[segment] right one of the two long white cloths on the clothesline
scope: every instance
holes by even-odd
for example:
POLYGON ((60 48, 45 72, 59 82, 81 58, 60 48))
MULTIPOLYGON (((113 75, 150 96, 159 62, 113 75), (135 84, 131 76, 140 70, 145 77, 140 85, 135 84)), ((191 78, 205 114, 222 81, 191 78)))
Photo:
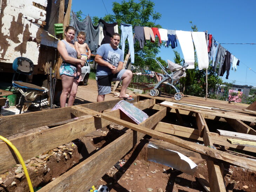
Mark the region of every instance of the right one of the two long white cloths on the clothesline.
POLYGON ((191 32, 196 48, 196 55, 198 59, 198 68, 206 69, 209 66, 207 44, 204 32, 191 32))

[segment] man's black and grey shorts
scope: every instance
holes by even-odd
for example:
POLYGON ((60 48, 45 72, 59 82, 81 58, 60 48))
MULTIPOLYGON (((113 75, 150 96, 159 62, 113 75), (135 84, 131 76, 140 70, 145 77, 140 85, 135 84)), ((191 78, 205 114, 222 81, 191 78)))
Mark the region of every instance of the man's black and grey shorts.
POLYGON ((96 76, 96 81, 98 85, 98 94, 99 95, 106 95, 111 92, 111 82, 112 81, 121 81, 121 78, 124 74, 126 69, 122 69, 116 74, 110 75, 99 75, 96 76))

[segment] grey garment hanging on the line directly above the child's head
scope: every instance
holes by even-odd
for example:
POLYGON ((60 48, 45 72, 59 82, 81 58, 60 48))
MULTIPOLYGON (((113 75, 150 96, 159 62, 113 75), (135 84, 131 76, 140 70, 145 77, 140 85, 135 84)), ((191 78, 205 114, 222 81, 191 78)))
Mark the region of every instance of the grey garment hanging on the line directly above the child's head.
POLYGON ((89 16, 86 16, 86 18, 81 22, 76 17, 76 14, 72 11, 69 25, 75 27, 76 29, 74 41, 77 41, 76 37, 78 36, 78 33, 80 31, 83 31, 87 34, 88 22, 89 22, 89 16))

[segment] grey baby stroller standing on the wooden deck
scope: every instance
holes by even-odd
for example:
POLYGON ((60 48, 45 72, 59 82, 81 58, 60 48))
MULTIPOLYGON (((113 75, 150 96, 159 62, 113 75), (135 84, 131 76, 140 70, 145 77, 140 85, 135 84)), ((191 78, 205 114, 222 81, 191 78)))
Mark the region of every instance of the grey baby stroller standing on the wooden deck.
POLYGON ((168 62, 168 68, 165 68, 162 66, 162 64, 155 59, 156 63, 161 67, 161 69, 164 71, 165 75, 158 73, 157 75, 160 75, 162 77, 162 80, 160 80, 153 89, 150 90, 151 96, 160 96, 161 91, 160 87, 162 84, 170 85, 171 88, 173 88, 176 93, 174 94, 175 100, 181 100, 184 95, 180 90, 178 90, 174 84, 177 84, 178 80, 180 80, 181 77, 186 77, 186 67, 188 67, 188 64, 183 63, 183 65, 176 64, 174 62, 171 62, 170 60, 167 60, 168 62), (170 70, 171 73, 167 73, 167 70, 170 70))

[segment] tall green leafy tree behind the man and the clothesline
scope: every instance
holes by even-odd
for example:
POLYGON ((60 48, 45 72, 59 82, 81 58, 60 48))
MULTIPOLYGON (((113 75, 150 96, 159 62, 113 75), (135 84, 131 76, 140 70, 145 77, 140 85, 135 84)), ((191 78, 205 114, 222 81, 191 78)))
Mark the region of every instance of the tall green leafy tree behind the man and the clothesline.
MULTIPOLYGON (((154 2, 150 0, 140 0, 139 3, 134 2, 134 0, 123 0, 121 4, 118 2, 113 2, 112 10, 114 14, 106 15, 103 20, 105 20, 106 22, 127 23, 132 26, 148 26, 161 28, 160 25, 155 24, 156 20, 159 20, 161 18, 161 14, 154 11, 154 6, 154 2)), ((119 31, 121 31, 120 27, 121 25, 119 25, 119 31)), ((136 43, 134 44, 134 66, 139 66, 141 68, 149 67, 150 70, 157 71, 159 67, 153 59, 160 51, 157 43, 157 37, 154 43, 147 40, 144 48, 141 49, 139 42, 136 41, 136 43)), ((128 53, 127 40, 124 53, 128 53)))

